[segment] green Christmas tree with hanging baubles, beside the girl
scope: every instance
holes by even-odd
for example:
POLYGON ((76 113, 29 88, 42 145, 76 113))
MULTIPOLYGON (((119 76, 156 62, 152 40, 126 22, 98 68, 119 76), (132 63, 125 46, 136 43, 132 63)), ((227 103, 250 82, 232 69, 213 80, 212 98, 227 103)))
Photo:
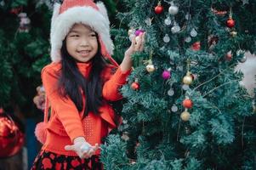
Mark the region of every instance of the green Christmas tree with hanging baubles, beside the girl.
POLYGON ((146 31, 121 91, 122 125, 102 145, 105 169, 253 169, 253 97, 239 82, 256 52, 256 2, 123 0, 116 54, 146 31))

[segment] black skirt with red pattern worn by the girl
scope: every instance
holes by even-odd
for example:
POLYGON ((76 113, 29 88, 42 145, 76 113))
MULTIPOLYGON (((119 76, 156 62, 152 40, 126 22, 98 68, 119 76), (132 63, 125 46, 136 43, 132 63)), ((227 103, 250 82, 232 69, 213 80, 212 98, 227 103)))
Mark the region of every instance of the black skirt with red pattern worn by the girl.
POLYGON ((64 156, 47 150, 41 150, 37 155, 31 170, 103 170, 99 156, 81 159, 79 156, 64 156))

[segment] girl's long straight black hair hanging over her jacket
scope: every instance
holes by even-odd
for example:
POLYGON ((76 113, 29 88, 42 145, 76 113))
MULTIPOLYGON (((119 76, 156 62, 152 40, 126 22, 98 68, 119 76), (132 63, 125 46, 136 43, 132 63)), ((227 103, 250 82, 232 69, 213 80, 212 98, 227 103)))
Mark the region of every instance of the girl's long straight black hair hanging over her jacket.
POLYGON ((88 77, 83 77, 78 70, 77 61, 71 57, 66 49, 66 39, 61 47, 61 71, 59 79, 59 94, 62 97, 70 97, 77 106, 77 110, 82 111, 82 94, 85 94, 85 111, 83 118, 88 116, 88 112, 100 114, 100 105, 103 105, 102 99, 102 79, 101 72, 105 68, 105 59, 100 53, 100 42, 96 34, 98 42, 98 52, 92 58, 92 68, 89 71, 88 77))

